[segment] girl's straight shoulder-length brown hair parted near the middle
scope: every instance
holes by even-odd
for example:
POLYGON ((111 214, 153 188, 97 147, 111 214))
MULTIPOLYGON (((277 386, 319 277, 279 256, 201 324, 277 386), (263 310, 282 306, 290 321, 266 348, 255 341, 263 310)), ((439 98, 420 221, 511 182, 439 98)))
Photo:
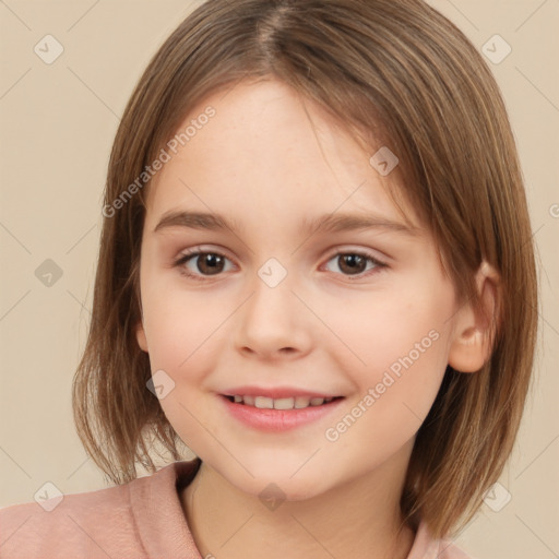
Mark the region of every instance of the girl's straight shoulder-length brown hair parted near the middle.
POLYGON ((370 155, 383 144, 397 154, 405 195, 463 302, 478 305, 474 276, 483 260, 500 274, 492 355, 474 374, 448 367, 402 495, 404 518, 442 537, 472 519, 512 451, 533 368, 537 281, 499 88, 464 34, 419 0, 210 0, 159 48, 124 110, 108 166, 111 211, 104 210, 91 329, 73 384, 79 436, 116 484, 136 476, 138 461, 155 471, 144 430, 180 460, 181 441, 146 389, 150 360, 134 335, 147 188, 131 194, 129 186, 191 107, 266 76, 322 107, 370 155))

